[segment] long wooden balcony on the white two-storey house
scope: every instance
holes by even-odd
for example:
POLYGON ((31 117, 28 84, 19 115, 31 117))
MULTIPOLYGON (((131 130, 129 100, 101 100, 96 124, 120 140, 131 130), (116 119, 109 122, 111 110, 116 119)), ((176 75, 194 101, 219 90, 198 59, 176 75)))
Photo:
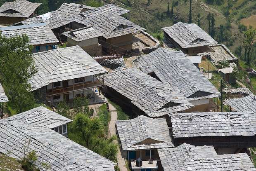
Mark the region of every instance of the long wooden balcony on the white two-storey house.
POLYGON ((101 87, 103 84, 99 80, 95 80, 94 82, 81 82, 78 84, 73 84, 68 87, 57 87, 54 89, 47 89, 47 96, 54 96, 62 93, 69 93, 75 91, 81 91, 85 89, 91 89, 93 87, 101 87))

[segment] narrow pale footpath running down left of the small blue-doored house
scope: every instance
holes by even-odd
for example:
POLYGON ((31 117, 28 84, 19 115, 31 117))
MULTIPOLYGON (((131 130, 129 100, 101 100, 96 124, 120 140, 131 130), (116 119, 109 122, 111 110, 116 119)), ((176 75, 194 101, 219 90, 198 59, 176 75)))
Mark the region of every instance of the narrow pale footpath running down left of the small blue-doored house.
MULTIPOLYGON (((110 136, 114 136, 114 135, 116 135, 117 112, 116 112, 116 108, 114 108, 114 106, 111 105, 110 103, 109 103, 109 110, 111 113, 111 120, 109 122, 109 134, 110 134, 110 136)), ((118 142, 116 141, 116 143, 118 143, 118 142)), ((125 159, 121 155, 120 148, 118 148, 118 152, 117 152, 117 162, 118 162, 120 171, 127 171, 126 162, 125 162, 125 159)))

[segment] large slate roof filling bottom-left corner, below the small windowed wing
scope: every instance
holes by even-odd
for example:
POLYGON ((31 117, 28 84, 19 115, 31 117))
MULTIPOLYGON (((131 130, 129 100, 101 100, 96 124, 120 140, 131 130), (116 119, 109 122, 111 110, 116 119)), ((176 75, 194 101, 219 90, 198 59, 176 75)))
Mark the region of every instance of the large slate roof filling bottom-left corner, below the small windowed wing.
POLYGON ((49 128, 1 119, 0 129, 0 152, 21 159, 24 151, 34 150, 42 171, 39 162, 49 164, 51 171, 114 171, 116 163, 49 128))

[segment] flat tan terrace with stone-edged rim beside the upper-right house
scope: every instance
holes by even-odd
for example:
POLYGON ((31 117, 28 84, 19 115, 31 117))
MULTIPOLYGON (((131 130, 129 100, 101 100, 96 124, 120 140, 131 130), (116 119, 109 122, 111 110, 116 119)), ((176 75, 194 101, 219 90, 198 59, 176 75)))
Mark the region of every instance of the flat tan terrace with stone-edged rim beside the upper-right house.
POLYGON ((213 52, 200 53, 200 56, 209 56, 211 61, 216 65, 222 61, 236 61, 238 60, 234 54, 223 44, 211 46, 213 52))

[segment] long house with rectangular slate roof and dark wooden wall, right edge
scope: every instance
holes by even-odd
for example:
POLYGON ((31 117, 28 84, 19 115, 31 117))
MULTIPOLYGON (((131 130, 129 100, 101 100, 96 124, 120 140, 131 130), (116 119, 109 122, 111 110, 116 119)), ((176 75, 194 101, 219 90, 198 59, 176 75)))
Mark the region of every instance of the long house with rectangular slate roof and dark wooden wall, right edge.
POLYGON ((213 145, 218 154, 247 152, 256 147, 254 112, 194 112, 173 114, 175 147, 183 143, 213 145))

